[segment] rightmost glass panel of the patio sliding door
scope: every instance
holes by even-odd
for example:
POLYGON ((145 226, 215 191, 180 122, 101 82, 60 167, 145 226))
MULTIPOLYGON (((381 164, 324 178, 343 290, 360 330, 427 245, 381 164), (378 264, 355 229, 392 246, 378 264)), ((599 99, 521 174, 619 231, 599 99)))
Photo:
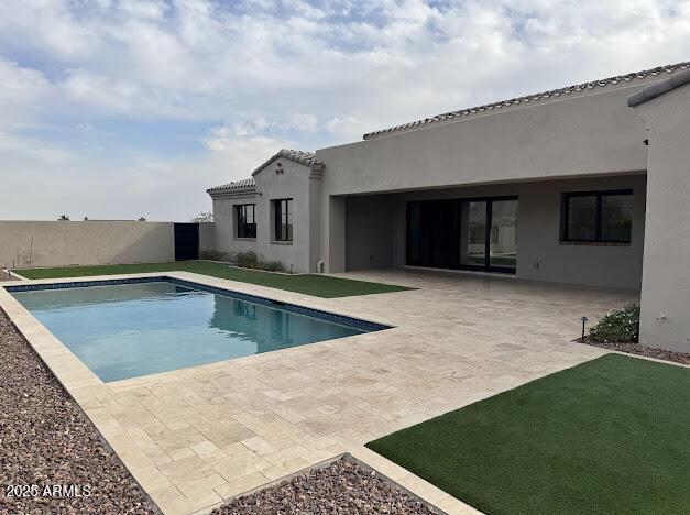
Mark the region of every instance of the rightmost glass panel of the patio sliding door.
POLYGON ((491 202, 489 265, 515 270, 517 264, 517 200, 491 202))

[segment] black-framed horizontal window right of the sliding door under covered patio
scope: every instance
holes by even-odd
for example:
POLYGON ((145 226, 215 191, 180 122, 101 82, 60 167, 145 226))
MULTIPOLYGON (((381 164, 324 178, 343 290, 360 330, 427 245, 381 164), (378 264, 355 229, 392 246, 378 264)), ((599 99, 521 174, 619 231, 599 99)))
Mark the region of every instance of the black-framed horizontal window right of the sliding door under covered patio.
POLYGON ((633 190, 578 191, 562 195, 561 241, 629 243, 633 190))

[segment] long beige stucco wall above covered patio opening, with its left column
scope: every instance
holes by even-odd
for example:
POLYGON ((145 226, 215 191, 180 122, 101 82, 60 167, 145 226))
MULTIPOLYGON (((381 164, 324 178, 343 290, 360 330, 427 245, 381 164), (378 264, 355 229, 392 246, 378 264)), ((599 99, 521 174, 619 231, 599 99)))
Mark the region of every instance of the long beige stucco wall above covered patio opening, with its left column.
MULTIPOLYGON (((643 173, 647 135, 626 99, 657 80, 319 150, 316 158, 326 164, 320 204, 330 206, 339 196, 643 173)), ((328 228, 342 227, 344 215, 329 209, 324 221, 319 254, 328 272, 343 271, 346 245, 328 228)))

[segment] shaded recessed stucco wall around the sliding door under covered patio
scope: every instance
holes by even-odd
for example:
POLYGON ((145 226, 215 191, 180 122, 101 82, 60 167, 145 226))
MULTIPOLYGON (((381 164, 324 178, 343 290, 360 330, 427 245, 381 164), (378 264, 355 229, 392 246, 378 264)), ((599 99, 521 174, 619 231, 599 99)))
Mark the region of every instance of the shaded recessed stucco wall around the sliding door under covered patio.
POLYGON ((637 174, 348 198, 347 267, 405 264, 407 201, 517 195, 517 277, 638 289, 645 238, 645 175, 637 174), (629 245, 560 242, 561 194, 627 188, 633 189, 634 196, 629 245))

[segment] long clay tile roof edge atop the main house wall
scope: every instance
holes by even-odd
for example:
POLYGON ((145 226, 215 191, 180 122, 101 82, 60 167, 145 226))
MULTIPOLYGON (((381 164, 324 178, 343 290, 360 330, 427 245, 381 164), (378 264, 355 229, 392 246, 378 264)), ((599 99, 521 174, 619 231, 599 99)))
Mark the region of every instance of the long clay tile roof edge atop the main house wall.
POLYGON ((436 123, 442 122, 442 121, 448 121, 448 120, 452 120, 456 118, 461 118, 461 117, 466 117, 469 114, 474 114, 478 112, 486 112, 486 111, 494 111, 494 110, 499 110, 501 108, 505 108, 505 107, 511 107, 511 106, 517 106, 521 103, 529 103, 529 102, 534 102, 537 100, 545 100, 545 99, 549 99, 549 98, 558 98, 560 96, 566 96, 566 95, 570 95, 573 92, 579 92, 579 91, 584 91, 588 89, 593 89, 593 88, 599 88, 599 87, 605 87, 605 86, 610 86, 610 85, 617 85, 621 83, 629 83, 633 79, 643 79, 643 78, 647 78, 647 77, 656 77, 659 76, 661 74, 672 74, 676 72, 680 72, 680 70, 684 70, 684 69, 690 69, 690 62, 683 62, 683 63, 678 63, 675 65, 667 65, 667 66, 659 66, 657 68, 653 68, 653 69, 645 69, 643 72, 636 72, 636 73, 632 73, 632 74, 626 74, 626 75, 618 75, 616 77, 610 77, 610 78, 605 78, 605 79, 601 79, 601 80, 594 80, 592 83, 583 83, 583 84, 577 84, 573 86, 567 86, 565 88, 559 88, 559 89, 552 89, 550 91, 543 91, 543 92, 538 92, 538 94, 533 94, 533 95, 527 95, 525 97, 517 97, 517 98, 513 98, 511 100, 502 100, 500 102, 493 102, 493 103, 485 103, 483 106, 477 106, 473 108, 467 108, 467 109, 461 109, 458 111, 450 111, 450 112, 446 112, 442 114, 437 114, 435 117, 429 117, 429 118, 425 118, 424 120, 417 120, 410 123, 404 123, 402 125, 395 125, 395 127, 391 127, 387 129, 381 129, 379 131, 374 131, 374 132, 369 132, 366 134, 364 134, 364 140, 370 140, 372 138, 376 138, 379 135, 384 135, 384 134, 390 134, 390 133, 394 133, 394 132, 398 132, 398 131, 405 131, 407 129, 415 129, 415 128, 419 128, 419 127, 427 127, 427 125, 434 125, 436 123))

